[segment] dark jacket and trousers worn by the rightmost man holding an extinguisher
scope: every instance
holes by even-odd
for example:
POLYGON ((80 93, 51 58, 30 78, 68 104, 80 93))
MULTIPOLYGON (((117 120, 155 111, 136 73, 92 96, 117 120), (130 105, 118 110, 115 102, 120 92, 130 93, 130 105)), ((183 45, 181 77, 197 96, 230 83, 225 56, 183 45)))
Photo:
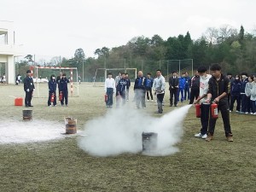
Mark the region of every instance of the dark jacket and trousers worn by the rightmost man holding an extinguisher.
MULTIPOLYGON (((230 106, 228 101, 228 93, 230 91, 230 79, 228 79, 226 76, 221 74, 221 78, 217 81, 215 77, 212 76, 211 79, 209 79, 209 90, 208 93, 212 94, 212 102, 215 98, 222 95, 224 92, 226 93, 226 96, 224 96, 222 99, 218 102, 218 111, 221 112, 221 116, 224 123, 224 131, 225 136, 228 137, 229 135, 232 136, 231 127, 230 127, 230 106)), ((216 125, 217 119, 212 119, 212 113, 210 113, 210 122, 209 122, 209 134, 213 136, 215 125, 216 125)))

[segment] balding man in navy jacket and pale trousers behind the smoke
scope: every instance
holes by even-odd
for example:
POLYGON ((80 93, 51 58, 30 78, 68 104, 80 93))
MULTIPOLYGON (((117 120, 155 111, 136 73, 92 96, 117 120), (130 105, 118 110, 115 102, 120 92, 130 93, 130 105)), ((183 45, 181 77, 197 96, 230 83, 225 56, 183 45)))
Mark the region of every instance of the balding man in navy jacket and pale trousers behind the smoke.
POLYGON ((138 71, 137 79, 134 82, 134 92, 135 92, 135 102, 136 108, 140 108, 140 104, 142 104, 142 108, 146 108, 145 95, 146 95, 146 78, 143 76, 142 71, 138 71))

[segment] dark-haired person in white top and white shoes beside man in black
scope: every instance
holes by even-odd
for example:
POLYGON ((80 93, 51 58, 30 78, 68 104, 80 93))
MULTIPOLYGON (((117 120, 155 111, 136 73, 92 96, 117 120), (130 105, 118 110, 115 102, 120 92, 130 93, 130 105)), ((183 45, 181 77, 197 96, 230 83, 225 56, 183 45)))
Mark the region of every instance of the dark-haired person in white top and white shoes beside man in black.
POLYGON ((200 75, 200 94, 195 100, 194 104, 201 102, 201 131, 195 134, 195 137, 207 138, 207 131, 209 125, 210 103, 206 102, 208 93, 208 82, 212 75, 207 74, 207 67, 201 66, 197 69, 200 75))

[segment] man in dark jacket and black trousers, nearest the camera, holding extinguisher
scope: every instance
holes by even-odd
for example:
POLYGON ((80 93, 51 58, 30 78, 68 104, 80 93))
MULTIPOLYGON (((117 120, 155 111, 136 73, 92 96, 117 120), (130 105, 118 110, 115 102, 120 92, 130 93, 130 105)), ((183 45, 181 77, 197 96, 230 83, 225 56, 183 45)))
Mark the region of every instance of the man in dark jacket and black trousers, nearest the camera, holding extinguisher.
MULTIPOLYGON (((221 73, 221 67, 218 64, 213 64, 210 67, 210 70, 212 72, 212 78, 209 79, 208 82, 209 90, 207 93, 206 102, 218 103, 218 111, 221 112, 224 123, 225 137, 227 138, 228 142, 233 142, 233 134, 230 126, 230 106, 228 102, 230 79, 221 73)), ((213 119, 212 113, 210 113, 209 129, 206 138, 207 142, 210 142, 213 138, 216 121, 217 119, 213 119)))

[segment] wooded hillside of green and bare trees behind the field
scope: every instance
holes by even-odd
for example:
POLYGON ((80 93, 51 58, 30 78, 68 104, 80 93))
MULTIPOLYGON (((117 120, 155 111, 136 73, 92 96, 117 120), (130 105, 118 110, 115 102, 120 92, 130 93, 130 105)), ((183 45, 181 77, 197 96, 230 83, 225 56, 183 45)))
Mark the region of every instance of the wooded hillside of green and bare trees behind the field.
MULTIPOLYGON (((72 59, 53 58, 44 65, 78 67, 81 77, 84 69, 86 79, 94 77, 96 68, 137 68, 144 73, 154 73, 161 68, 166 75, 181 67, 182 71, 191 72, 192 60, 194 69, 219 63, 225 73, 256 73, 256 37, 253 32, 245 32, 243 26, 239 30, 228 25, 209 27, 195 40, 189 32, 166 40, 157 34, 152 38, 139 36, 119 47, 96 49, 94 54, 95 57, 86 58, 84 50, 79 48, 72 59)), ((16 63, 17 67, 42 65, 32 63, 31 56, 26 55, 24 61, 16 63)), ((99 76, 104 76, 103 72, 99 76)))

